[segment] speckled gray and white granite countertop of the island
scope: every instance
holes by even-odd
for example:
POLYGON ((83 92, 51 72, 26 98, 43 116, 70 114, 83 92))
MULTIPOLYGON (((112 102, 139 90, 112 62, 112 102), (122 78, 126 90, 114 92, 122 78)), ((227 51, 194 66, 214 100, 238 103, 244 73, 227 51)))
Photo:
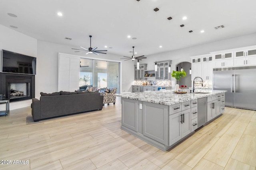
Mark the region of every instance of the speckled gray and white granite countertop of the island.
POLYGON ((204 98, 207 96, 212 96, 215 94, 221 94, 227 92, 226 90, 207 90, 207 93, 186 93, 186 94, 176 94, 172 90, 163 91, 150 91, 150 92, 136 92, 136 93, 124 93, 116 94, 116 96, 122 98, 128 98, 133 100, 139 100, 143 102, 150 102, 162 105, 173 105, 181 102, 187 102, 190 100, 204 98))

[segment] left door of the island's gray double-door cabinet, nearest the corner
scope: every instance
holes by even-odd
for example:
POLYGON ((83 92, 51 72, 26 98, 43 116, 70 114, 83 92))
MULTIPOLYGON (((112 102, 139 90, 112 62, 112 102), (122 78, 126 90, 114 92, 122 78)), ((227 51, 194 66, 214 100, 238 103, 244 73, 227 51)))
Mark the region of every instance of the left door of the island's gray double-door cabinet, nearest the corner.
POLYGON ((181 112, 169 115, 169 145, 181 139, 181 112))

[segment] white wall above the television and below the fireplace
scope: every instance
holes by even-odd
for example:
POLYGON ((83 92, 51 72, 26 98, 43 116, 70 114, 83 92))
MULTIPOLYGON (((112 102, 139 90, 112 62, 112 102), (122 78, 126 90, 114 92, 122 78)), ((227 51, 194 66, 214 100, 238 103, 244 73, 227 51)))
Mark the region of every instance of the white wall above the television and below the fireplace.
MULTIPOLYGON (((14 29, 0 25, 0 50, 2 51, 2 49, 37 57, 37 40, 14 29)), ((2 60, 1 57, 0 59, 2 60)), ((30 106, 31 102, 32 100, 12 102, 10 103, 10 109, 30 106)), ((0 110, 5 110, 5 105, 1 104, 0 110)))

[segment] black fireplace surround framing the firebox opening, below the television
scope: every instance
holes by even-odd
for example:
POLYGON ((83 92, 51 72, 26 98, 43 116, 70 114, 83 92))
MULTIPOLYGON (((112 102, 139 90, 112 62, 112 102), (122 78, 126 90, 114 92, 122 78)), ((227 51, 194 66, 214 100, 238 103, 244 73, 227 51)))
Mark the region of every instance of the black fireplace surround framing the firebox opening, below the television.
POLYGON ((14 74, 14 73, 0 73, 0 94, 4 94, 6 98, 10 98, 10 102, 29 100, 35 98, 35 75, 30 74, 14 74), (29 96, 22 96, 19 98, 10 98, 10 83, 26 83, 28 84, 29 96))

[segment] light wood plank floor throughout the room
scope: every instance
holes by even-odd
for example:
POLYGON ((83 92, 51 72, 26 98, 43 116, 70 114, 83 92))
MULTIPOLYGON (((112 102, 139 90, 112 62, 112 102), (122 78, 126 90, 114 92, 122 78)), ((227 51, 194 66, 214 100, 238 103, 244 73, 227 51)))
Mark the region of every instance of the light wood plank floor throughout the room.
POLYGON ((256 170, 256 111, 226 107, 221 117, 166 152, 120 125, 120 98, 101 111, 39 122, 33 122, 30 107, 11 110, 0 117, 0 160, 11 164, 0 169, 256 170))

